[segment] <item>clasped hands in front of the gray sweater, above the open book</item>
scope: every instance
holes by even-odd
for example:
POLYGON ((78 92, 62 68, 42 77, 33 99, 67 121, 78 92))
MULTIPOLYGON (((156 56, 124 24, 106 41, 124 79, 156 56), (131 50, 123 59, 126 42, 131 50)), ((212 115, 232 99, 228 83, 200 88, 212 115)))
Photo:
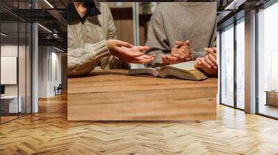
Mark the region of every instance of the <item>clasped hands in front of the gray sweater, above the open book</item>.
POLYGON ((176 41, 177 46, 171 49, 170 55, 162 55, 162 65, 177 64, 179 62, 186 62, 192 60, 192 52, 189 48, 189 41, 176 41))

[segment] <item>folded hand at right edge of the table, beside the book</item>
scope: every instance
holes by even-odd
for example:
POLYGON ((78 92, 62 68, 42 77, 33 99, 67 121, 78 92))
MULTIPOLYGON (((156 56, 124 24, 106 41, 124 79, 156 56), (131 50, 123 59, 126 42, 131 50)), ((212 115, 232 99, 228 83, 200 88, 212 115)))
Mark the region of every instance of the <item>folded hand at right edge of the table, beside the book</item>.
POLYGON ((204 71, 208 75, 218 75, 217 50, 216 48, 204 48, 208 55, 197 57, 195 68, 204 71))

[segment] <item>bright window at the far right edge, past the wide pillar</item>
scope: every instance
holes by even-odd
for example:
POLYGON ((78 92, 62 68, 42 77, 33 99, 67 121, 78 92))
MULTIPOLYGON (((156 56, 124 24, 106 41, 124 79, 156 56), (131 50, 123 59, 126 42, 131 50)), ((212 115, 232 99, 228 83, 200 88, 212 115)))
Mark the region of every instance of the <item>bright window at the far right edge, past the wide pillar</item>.
POLYGON ((258 12, 257 111, 278 118, 278 3, 258 12))

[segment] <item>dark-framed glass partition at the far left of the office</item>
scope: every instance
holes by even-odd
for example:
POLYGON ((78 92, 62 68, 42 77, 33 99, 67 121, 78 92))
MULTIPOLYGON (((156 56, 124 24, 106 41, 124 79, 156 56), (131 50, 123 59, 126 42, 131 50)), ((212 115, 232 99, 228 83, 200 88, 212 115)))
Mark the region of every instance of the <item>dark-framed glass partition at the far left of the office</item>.
POLYGON ((0 1, 0 123, 31 113, 31 24, 15 13, 30 1, 0 1))

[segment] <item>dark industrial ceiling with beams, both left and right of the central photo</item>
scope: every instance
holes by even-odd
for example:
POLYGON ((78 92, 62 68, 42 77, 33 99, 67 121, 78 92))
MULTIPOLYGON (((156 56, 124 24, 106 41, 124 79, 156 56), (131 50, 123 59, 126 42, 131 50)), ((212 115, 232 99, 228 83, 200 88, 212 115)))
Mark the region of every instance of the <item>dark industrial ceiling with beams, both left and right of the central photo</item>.
MULTIPOLYGON (((218 3, 217 21, 218 26, 220 26, 233 17, 235 13, 240 12, 240 10, 248 10, 254 6, 266 3, 269 0, 212 1, 216 1, 218 3), (236 3, 234 3, 234 1, 236 1, 236 3)), ((17 22, 18 19, 19 21, 38 22, 44 27, 38 27, 39 39, 44 42, 43 44, 47 44, 47 42, 51 42, 53 44, 55 42, 59 42, 59 46, 63 44, 63 48, 67 48, 67 3, 69 2, 70 0, 33 0, 33 3, 31 3, 31 0, 0 0, 1 22, 5 23, 2 24, 3 28, 1 28, 1 30, 3 32, 5 30, 6 33, 10 34, 10 36, 16 36, 17 26, 13 26, 13 22, 17 22), (35 6, 37 9, 32 9, 35 8, 35 6), (51 30, 53 33, 49 33, 49 30, 46 30, 45 28, 51 30), (51 41, 49 39, 51 39, 51 41)), ((24 30, 19 30, 19 37, 24 33, 24 30)))

